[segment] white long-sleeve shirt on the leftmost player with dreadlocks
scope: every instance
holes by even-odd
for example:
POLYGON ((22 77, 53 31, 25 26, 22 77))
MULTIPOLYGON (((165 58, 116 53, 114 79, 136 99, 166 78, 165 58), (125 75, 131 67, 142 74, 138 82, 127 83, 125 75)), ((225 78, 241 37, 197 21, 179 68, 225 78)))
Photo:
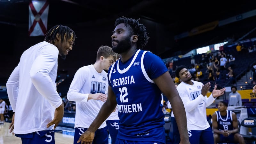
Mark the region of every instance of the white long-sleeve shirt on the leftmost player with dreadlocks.
POLYGON ((40 42, 27 49, 12 71, 6 88, 15 112, 14 133, 27 134, 46 128, 62 100, 56 90, 59 50, 53 44, 40 42))

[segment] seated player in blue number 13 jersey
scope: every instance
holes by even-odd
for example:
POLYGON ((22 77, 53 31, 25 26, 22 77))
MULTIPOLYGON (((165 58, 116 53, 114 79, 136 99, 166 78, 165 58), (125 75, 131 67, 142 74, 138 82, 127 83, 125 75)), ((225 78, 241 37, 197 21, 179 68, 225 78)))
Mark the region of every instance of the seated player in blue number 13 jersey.
POLYGON ((218 111, 212 114, 212 130, 214 144, 227 142, 245 144, 243 136, 238 133, 236 114, 228 110, 228 104, 225 101, 220 101, 218 111))

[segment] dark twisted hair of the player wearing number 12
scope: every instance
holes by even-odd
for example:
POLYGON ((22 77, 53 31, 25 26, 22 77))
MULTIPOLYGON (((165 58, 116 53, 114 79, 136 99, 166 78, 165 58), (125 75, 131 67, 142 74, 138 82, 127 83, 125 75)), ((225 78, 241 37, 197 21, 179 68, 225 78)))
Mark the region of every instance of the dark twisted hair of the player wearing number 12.
POLYGON ((142 49, 143 47, 145 47, 148 43, 148 39, 149 37, 147 36, 149 33, 146 32, 146 28, 143 24, 139 23, 139 20, 135 20, 132 18, 126 18, 124 16, 119 17, 118 19, 116 19, 115 22, 115 27, 117 25, 119 25, 120 23, 124 23, 124 25, 128 28, 131 29, 131 35, 137 35, 139 36, 138 41, 137 41, 137 46, 139 49, 142 49))

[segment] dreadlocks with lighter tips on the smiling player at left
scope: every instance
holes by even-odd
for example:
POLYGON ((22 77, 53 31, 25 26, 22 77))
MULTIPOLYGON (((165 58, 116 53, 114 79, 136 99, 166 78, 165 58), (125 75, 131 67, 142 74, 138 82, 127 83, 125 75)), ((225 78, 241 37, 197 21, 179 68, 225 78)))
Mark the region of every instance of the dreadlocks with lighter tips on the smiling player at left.
POLYGON ((52 43, 54 43, 57 33, 59 33, 61 36, 61 42, 63 42, 65 34, 66 34, 66 40, 70 39, 72 36, 73 38, 76 38, 75 32, 68 26, 56 25, 46 32, 44 41, 46 42, 52 41, 52 43))

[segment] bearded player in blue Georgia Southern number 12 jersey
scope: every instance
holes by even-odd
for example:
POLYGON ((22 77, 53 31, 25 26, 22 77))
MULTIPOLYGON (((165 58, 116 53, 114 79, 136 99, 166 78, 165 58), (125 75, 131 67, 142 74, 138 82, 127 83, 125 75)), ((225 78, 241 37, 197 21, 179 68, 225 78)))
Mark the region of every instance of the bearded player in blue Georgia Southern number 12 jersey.
POLYGON ((139 20, 120 17, 112 37, 113 51, 121 57, 108 70, 108 99, 78 142, 91 144, 94 132, 116 108, 119 130, 116 144, 165 144, 161 93, 172 104, 180 131, 180 144, 189 144, 182 100, 163 60, 140 50, 148 33, 139 20))

